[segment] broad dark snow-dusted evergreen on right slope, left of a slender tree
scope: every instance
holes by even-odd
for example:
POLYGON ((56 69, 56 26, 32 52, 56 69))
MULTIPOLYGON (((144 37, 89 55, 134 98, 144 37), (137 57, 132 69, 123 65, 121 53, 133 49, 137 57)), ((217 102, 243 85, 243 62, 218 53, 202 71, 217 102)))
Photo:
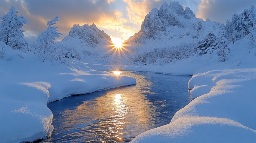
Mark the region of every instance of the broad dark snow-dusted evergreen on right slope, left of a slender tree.
POLYGON ((203 41, 200 42, 199 46, 197 47, 198 49, 198 54, 206 54, 207 51, 209 50, 208 48, 214 48, 216 46, 216 41, 217 38, 213 34, 213 32, 210 32, 206 35, 203 41))

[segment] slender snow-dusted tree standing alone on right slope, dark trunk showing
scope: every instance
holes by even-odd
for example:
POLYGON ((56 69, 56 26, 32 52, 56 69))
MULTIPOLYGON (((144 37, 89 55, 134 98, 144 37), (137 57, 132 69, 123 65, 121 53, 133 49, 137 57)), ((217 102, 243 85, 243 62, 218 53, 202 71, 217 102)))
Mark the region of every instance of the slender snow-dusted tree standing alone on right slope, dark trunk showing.
POLYGON ((230 49, 228 47, 228 40, 224 37, 224 29, 220 32, 218 36, 218 41, 216 45, 216 49, 218 49, 218 56, 220 56, 220 61, 225 62, 225 57, 227 53, 230 53, 230 49))

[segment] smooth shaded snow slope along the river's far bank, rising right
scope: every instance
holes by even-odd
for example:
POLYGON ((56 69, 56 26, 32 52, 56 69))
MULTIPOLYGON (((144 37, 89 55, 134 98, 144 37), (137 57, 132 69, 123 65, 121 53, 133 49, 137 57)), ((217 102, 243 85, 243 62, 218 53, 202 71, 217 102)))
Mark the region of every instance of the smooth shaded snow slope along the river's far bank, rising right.
POLYGON ((121 68, 131 71, 150 71, 174 75, 193 75, 196 73, 207 72, 210 70, 232 69, 232 68, 256 68, 256 48, 251 48, 248 36, 233 45, 228 45, 230 53, 226 56, 225 62, 220 62, 217 51, 211 54, 193 55, 187 59, 177 60, 160 65, 94 65, 87 66, 97 70, 108 70, 109 68, 121 68))

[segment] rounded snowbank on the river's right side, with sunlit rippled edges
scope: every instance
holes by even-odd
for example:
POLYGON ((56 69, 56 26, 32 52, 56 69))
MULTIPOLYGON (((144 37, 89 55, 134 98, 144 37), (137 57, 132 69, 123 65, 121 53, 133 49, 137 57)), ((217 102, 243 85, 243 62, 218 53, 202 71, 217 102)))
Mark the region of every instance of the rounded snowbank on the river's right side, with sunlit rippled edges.
POLYGON ((144 132, 132 142, 256 142, 255 73, 256 68, 251 68, 193 75, 191 96, 203 95, 178 111, 170 124, 144 132))

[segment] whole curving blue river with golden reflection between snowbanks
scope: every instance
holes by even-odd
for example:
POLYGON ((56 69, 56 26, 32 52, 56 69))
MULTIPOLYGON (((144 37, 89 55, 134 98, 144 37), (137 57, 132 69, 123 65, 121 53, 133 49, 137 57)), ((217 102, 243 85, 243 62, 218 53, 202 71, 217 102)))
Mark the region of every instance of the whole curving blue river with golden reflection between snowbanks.
POLYGON ((191 76, 123 71, 137 84, 48 103, 52 137, 40 142, 129 142, 149 129, 170 123, 189 104, 191 76))

